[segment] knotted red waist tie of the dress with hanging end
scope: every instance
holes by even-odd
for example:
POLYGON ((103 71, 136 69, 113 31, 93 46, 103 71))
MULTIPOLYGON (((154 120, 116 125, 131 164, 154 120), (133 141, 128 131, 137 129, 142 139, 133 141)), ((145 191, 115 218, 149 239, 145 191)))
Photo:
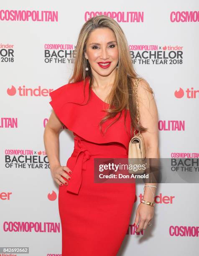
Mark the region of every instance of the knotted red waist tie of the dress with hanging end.
MULTIPOLYGON (((74 140, 77 142, 75 143, 74 151, 71 156, 75 156, 75 166, 73 169, 73 176, 67 185, 67 191, 72 192, 74 194, 79 194, 79 189, 82 184, 82 171, 84 163, 89 160, 90 158, 97 158, 104 156, 104 158, 108 158, 107 154, 92 154, 88 148, 82 143, 79 137, 74 137, 74 140)), ((114 154, 115 155, 115 154, 114 154)), ((120 154, 120 157, 126 156, 120 154)))

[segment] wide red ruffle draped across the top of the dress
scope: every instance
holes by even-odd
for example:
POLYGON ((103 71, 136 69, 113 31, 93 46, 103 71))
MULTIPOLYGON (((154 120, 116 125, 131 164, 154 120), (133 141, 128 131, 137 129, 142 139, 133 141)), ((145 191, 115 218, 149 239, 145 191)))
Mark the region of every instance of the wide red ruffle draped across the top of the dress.
MULTIPOLYGON (((93 97, 89 104, 78 105, 75 103, 85 103, 89 97, 89 77, 86 79, 85 85, 85 99, 84 99, 84 84, 83 81, 77 83, 65 84, 62 87, 50 92, 51 102, 49 102, 54 109, 54 112, 61 120, 61 122, 70 131, 81 136, 82 138, 92 141, 94 143, 110 143, 118 142, 125 146, 128 151, 130 141, 130 115, 129 111, 126 117, 126 127, 124 126, 124 113, 114 125, 111 125, 106 132, 102 135, 99 130, 99 121, 106 115, 102 110, 102 105, 106 109, 108 104, 96 104, 94 99, 94 92, 91 90, 93 97), (92 131, 92 132, 91 132, 92 131), (117 131, 115 133, 115 131, 117 131)), ((97 95, 95 95, 97 97, 97 95)), ((97 97, 98 98, 98 97, 97 97)), ((102 101, 98 98, 99 101, 102 101)), ((120 114, 118 113, 115 118, 120 114)), ((107 120, 103 125, 103 131, 112 123, 113 120, 107 120)))

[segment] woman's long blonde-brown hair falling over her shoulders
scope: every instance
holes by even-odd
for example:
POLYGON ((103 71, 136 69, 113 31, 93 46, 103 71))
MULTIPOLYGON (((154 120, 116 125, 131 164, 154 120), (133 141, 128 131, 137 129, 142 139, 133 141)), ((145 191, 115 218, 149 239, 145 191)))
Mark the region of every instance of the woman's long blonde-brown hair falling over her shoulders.
MULTIPOLYGON (((99 123, 100 131, 102 132, 102 123, 104 123, 107 119, 114 118, 117 113, 120 113, 118 118, 116 118, 110 125, 115 123, 121 116, 122 110, 125 109, 125 120, 127 115, 127 108, 130 111, 131 118, 131 129, 130 136, 132 137, 132 128, 135 128, 137 131, 145 131, 147 128, 144 128, 137 121, 137 108, 136 108, 136 98, 134 94, 134 82, 135 79, 138 78, 138 74, 135 72, 133 68, 133 64, 131 63, 130 51, 128 49, 128 42, 126 36, 119 26, 119 24, 105 15, 99 15, 89 19, 84 25, 79 33, 77 46, 75 50, 75 61, 74 61, 74 70, 70 82, 79 82, 84 80, 84 93, 85 93, 85 79, 90 77, 89 83, 89 97, 92 90, 92 71, 90 68, 90 64, 87 65, 87 59, 84 56, 84 52, 86 51, 86 44, 89 39, 89 35, 92 31, 97 28, 110 28, 115 34, 119 52, 119 61, 117 72, 115 75, 115 80, 111 89, 110 94, 108 95, 109 108, 105 110, 107 115, 102 118, 99 123), (87 67, 88 71, 85 70, 87 67), (114 108, 111 108, 114 106, 114 108)), ((153 94, 153 90, 150 86, 149 90, 153 94)), ((85 96, 85 94, 84 94, 85 96)), ((108 127, 110 126, 108 125, 108 127)), ((107 127, 107 128, 108 128, 107 127)))

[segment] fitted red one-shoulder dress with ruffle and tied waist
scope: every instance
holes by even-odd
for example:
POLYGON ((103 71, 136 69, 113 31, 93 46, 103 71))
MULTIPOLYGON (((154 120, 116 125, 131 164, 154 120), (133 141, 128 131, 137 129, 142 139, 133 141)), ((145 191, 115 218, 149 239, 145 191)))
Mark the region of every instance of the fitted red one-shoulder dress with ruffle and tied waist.
MULTIPOLYGON (((99 122, 109 104, 92 89, 89 95, 89 77, 50 96, 57 117, 74 134, 74 151, 66 162, 71 179, 59 187, 62 256, 116 256, 130 224, 135 183, 94 182, 94 158, 128 158, 130 113, 126 125, 124 110, 102 134, 99 122)), ((103 123, 102 131, 112 121, 103 123)))

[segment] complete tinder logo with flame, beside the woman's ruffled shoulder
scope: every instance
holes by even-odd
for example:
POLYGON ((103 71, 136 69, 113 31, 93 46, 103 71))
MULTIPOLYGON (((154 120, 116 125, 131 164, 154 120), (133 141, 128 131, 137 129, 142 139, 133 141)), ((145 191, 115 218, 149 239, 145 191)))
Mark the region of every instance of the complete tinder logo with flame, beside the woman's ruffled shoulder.
POLYGON ((15 88, 13 85, 11 88, 7 89, 7 94, 9 96, 14 96, 17 94, 19 96, 49 96, 50 92, 53 91, 53 89, 41 89, 41 86, 38 86, 38 88, 26 88, 25 85, 19 86, 18 88, 15 88))

